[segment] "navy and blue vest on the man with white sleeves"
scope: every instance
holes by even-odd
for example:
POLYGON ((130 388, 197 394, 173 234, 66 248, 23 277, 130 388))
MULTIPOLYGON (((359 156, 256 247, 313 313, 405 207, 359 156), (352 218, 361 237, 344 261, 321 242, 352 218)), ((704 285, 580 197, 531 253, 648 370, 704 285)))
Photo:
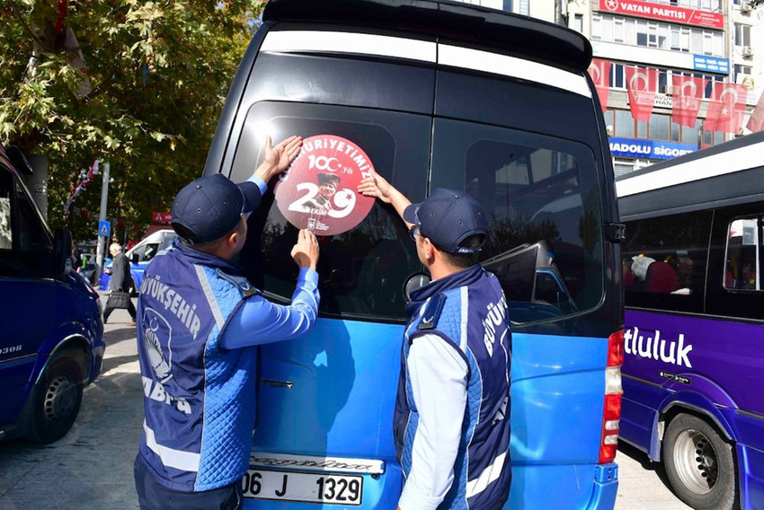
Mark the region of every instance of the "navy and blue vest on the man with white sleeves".
POLYGON ((511 328, 507 302, 493 274, 466 268, 412 293, 395 401, 395 446, 408 477, 419 422, 406 359, 417 337, 434 334, 467 366, 466 409, 454 482, 439 509, 500 507, 509 495, 511 328))

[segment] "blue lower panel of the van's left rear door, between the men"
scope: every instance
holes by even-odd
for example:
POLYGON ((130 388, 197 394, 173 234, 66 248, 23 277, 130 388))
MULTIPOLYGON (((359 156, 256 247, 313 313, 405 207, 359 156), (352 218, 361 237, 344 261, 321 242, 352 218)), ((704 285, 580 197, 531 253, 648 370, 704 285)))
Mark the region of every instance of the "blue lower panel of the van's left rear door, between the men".
MULTIPOLYGON (((401 325, 319 319, 302 339, 263 346, 253 451, 382 461, 383 474, 364 475, 363 508, 394 508, 402 483, 392 426, 403 334, 401 325)), ((303 506, 315 508, 289 504, 303 506)))

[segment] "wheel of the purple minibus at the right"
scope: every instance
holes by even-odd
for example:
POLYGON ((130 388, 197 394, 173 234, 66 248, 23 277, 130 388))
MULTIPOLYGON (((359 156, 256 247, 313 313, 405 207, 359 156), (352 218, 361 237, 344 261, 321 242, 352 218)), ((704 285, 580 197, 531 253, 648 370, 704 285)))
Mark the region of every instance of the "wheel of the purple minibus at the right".
POLYGON ((686 414, 671 420, 663 437, 663 465, 674 493, 688 506, 733 508, 733 448, 704 420, 686 414))

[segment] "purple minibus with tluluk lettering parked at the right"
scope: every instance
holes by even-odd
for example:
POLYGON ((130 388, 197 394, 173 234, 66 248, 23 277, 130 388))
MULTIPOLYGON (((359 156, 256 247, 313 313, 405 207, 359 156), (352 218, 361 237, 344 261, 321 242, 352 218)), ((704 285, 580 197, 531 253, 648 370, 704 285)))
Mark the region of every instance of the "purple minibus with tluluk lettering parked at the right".
POLYGON ((764 132, 617 179, 620 439, 693 508, 764 508, 764 132))

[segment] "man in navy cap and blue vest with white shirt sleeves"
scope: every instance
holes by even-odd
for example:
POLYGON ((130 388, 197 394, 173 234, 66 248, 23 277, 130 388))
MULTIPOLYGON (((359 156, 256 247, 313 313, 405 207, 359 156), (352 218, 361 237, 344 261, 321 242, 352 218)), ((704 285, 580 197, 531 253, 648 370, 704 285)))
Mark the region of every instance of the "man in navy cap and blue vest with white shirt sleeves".
POLYGON ((510 492, 511 329, 507 301, 478 263, 483 207, 435 189, 421 204, 372 172, 359 191, 392 204, 432 281, 406 306, 395 447, 399 510, 498 510, 510 492))

